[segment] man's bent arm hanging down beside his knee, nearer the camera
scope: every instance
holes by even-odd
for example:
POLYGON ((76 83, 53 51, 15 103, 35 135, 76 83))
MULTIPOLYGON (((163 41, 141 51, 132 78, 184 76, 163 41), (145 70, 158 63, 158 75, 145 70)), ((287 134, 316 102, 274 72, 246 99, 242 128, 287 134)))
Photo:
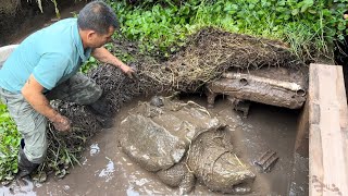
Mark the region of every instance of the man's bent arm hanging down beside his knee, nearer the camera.
POLYGON ((42 94, 44 87, 35 79, 33 74, 22 88, 22 95, 30 103, 30 106, 39 113, 53 122, 58 131, 66 131, 70 128, 70 121, 65 117, 55 111, 42 94))

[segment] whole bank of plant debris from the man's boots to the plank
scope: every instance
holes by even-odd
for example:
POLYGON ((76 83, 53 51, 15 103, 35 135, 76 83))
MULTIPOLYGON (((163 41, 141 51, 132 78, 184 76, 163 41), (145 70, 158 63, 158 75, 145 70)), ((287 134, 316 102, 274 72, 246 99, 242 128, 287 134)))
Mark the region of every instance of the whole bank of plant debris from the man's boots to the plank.
MULTIPOLYGON (((128 78, 120 69, 100 65, 91 70, 88 76, 103 89, 100 99, 102 110, 109 117, 119 112, 121 107, 140 95, 173 94, 175 91, 197 93, 204 83, 219 78, 231 69, 257 70, 262 66, 300 68, 301 62, 278 41, 231 34, 214 28, 204 28, 192 35, 187 47, 167 61, 145 57, 132 45, 116 42, 119 48, 133 56, 129 65, 137 70, 136 78, 128 78)), ((73 133, 48 134, 49 152, 46 163, 58 173, 66 163, 78 162, 78 155, 84 144, 98 130, 101 130, 96 117, 85 106, 59 101, 55 107, 69 117, 74 127, 73 133), (61 160, 61 159, 64 160, 61 160)), ((44 170, 41 168, 41 170, 44 170)))

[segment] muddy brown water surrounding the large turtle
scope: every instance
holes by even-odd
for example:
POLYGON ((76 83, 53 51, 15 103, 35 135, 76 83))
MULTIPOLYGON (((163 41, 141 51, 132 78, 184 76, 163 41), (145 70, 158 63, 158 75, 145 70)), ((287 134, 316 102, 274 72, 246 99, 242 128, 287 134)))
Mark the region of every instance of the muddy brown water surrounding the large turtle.
MULTIPOLYGON (((188 100, 187 98, 185 98, 188 100)), ((204 98, 191 99, 207 105, 204 98)), ((135 107, 134 101, 119 113, 115 123, 126 117, 127 110, 135 107)), ((250 195, 304 195, 304 183, 294 186, 293 175, 294 145, 297 112, 263 105, 252 105, 248 119, 231 110, 226 100, 217 99, 214 109, 209 110, 229 125, 233 144, 241 160, 249 163, 257 174, 253 193, 250 195), (268 149, 277 152, 279 160, 270 173, 259 173, 253 161, 268 149)), ((306 162, 306 160, 303 161, 306 162)), ((50 177, 47 183, 16 187, 15 195, 178 195, 177 188, 162 184, 154 174, 133 163, 117 147, 117 126, 103 130, 88 144, 82 167, 71 169, 63 180, 50 177)), ((306 168, 306 166, 304 166, 306 168)), ((306 176, 306 174, 303 175, 306 176)), ((4 195, 11 195, 8 188, 0 188, 4 195)), ((1 195, 1 194, 0 194, 1 195)), ((197 185, 190 195, 220 195, 197 185)))

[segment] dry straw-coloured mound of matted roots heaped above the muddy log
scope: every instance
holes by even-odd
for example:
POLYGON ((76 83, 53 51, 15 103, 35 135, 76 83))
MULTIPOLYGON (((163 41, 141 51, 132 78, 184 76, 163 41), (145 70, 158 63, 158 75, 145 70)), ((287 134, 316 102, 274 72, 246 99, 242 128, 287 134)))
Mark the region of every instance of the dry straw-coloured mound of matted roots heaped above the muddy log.
POLYGON ((164 89, 195 93, 204 83, 233 68, 298 68, 302 63, 279 41, 204 28, 187 47, 159 64, 141 62, 141 72, 164 89))

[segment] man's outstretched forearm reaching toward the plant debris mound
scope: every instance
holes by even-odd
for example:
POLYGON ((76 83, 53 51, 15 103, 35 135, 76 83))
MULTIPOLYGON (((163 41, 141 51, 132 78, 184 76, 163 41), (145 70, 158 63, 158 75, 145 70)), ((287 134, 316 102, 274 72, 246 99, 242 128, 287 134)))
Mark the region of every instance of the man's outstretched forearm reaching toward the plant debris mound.
POLYGON ((109 63, 120 68, 125 74, 127 74, 132 78, 134 70, 128 65, 126 65, 125 63, 123 63, 120 59, 114 57, 112 53, 110 53, 110 51, 108 51, 104 47, 94 49, 94 51, 91 52, 91 56, 103 63, 109 63))

